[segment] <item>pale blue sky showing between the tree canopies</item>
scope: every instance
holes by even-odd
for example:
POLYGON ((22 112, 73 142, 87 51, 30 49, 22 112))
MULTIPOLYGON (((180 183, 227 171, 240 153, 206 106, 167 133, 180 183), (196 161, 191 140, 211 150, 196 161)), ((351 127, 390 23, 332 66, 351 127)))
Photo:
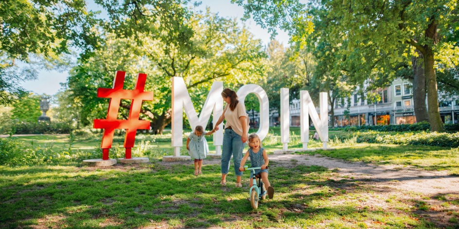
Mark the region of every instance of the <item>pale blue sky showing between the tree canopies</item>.
MULTIPOLYGON (((249 19, 242 22, 240 18, 244 16, 244 8, 237 4, 232 4, 230 0, 201 0, 202 4, 197 7, 198 10, 205 11, 206 6, 210 7, 211 12, 218 13, 222 17, 236 17, 239 23, 245 24, 251 33, 255 35, 255 38, 261 39, 264 45, 267 45, 270 41, 270 34, 267 29, 261 28, 255 21, 249 19)), ((93 0, 87 0, 88 10, 101 10, 101 17, 106 18, 106 14, 103 9, 94 3, 93 0)), ((278 35, 275 37, 276 40, 283 43, 284 46, 288 46, 289 36, 282 30, 278 30, 278 35)), ((32 91, 35 94, 47 94, 54 95, 61 88, 60 83, 66 82, 69 72, 58 72, 55 70, 41 70, 38 73, 38 79, 34 81, 26 81, 21 83, 21 86, 26 90, 32 91)))

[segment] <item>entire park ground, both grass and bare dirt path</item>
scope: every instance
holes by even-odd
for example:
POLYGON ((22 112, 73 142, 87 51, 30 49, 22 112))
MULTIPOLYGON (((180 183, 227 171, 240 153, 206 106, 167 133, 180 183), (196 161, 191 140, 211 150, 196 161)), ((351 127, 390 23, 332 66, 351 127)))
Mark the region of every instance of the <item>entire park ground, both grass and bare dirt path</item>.
POLYGON ((218 159, 195 177, 192 162, 162 162, 170 141, 150 138, 136 140, 148 164, 86 167, 71 157, 96 150, 97 137, 16 137, 70 148, 71 159, 0 166, 0 228, 459 228, 458 148, 349 140, 331 141, 332 151, 273 155, 281 146, 267 138, 276 193, 253 210, 248 173, 235 188, 231 163, 222 187, 218 159))

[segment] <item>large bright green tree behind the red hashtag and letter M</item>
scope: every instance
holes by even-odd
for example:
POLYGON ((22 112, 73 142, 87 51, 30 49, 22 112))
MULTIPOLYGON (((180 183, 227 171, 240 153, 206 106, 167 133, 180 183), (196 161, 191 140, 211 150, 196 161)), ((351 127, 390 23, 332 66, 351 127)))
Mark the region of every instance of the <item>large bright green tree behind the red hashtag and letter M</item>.
MULTIPOLYGON (((147 73, 145 90, 153 91, 155 97, 153 102, 143 103, 141 118, 153 122, 155 133, 161 133, 171 121, 171 77, 183 77, 196 110, 202 107, 214 81, 234 88, 265 78, 265 53, 260 41, 246 28, 239 28, 235 20, 207 12, 195 14, 186 23, 194 34, 186 49, 142 33, 141 46, 133 39, 106 33, 106 47, 75 67, 68 81, 75 102, 81 104, 85 123, 105 117, 106 99, 95 98, 95 92, 98 87, 112 86, 116 70, 132 75, 147 73)), ((128 77, 125 87, 133 88, 134 83, 133 77, 128 77)), ((121 116, 127 114, 129 106, 130 101, 121 102, 126 108, 121 116)))

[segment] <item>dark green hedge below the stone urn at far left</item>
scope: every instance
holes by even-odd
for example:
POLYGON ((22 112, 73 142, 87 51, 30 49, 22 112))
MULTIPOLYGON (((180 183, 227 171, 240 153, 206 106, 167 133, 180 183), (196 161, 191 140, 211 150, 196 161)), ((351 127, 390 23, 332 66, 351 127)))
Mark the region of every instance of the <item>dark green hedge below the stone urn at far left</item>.
POLYGON ((45 134, 45 133, 70 133, 73 130, 68 123, 60 122, 19 122, 10 120, 2 123, 0 134, 45 134))

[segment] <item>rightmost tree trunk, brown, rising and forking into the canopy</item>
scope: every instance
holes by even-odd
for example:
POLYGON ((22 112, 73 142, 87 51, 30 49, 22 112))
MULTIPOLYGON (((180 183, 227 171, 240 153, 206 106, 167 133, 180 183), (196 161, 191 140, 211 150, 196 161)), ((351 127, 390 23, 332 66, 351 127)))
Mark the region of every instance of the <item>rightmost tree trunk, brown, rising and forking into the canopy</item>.
POLYGON ((427 104, 429 106, 430 131, 444 132, 443 122, 440 117, 440 109, 438 107, 437 76, 435 74, 434 62, 433 50, 427 47, 424 52, 424 70, 427 87, 427 104))

